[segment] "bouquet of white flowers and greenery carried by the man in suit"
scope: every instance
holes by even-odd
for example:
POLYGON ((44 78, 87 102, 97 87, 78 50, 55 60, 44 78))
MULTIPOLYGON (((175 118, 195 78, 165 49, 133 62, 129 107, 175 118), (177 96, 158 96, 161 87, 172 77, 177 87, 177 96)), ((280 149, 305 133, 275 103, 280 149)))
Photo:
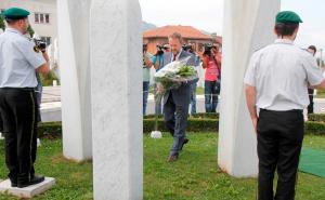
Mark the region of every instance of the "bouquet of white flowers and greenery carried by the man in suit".
POLYGON ((190 57, 172 62, 155 74, 155 81, 160 94, 198 78, 194 66, 187 65, 188 59, 190 57))

